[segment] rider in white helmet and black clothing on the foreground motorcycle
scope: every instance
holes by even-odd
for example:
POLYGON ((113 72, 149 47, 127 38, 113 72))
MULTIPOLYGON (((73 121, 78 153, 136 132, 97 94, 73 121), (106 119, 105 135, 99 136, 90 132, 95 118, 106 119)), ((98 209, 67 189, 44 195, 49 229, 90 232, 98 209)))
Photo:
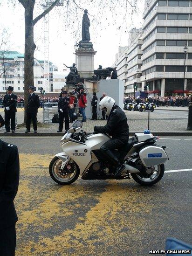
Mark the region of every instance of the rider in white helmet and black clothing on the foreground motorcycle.
POLYGON ((112 138, 101 146, 104 157, 116 168, 117 177, 125 168, 114 153, 128 143, 129 125, 123 110, 115 104, 115 100, 109 96, 104 97, 99 103, 100 110, 106 111, 108 116, 107 124, 95 126, 95 133, 108 133, 112 138))

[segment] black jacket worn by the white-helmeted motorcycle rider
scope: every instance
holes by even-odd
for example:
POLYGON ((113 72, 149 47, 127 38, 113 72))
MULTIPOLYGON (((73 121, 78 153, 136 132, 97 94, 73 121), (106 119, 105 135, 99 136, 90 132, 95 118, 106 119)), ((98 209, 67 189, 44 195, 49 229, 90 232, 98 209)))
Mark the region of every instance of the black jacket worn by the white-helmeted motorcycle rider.
POLYGON ((115 105, 108 117, 107 124, 104 126, 95 126, 96 133, 108 133, 113 138, 129 138, 129 125, 127 117, 123 110, 115 105))

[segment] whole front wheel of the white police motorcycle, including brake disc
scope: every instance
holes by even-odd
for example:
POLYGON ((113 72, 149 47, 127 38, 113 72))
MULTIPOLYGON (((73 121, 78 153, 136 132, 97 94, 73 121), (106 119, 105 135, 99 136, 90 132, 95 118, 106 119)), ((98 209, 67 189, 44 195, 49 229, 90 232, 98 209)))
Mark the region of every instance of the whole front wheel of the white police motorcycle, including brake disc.
POLYGON ((70 169, 64 167, 61 169, 62 160, 54 157, 49 164, 49 174, 56 183, 60 185, 69 185, 78 179, 80 170, 75 162, 70 163, 70 169), (66 169, 65 169, 66 168, 66 169))

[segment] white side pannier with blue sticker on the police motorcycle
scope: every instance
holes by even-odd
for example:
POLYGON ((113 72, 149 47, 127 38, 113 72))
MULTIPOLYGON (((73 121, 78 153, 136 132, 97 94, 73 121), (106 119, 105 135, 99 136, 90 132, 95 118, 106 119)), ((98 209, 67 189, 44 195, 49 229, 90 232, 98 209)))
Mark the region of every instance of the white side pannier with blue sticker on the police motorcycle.
POLYGON ((139 152, 139 157, 146 167, 164 164, 167 160, 167 154, 163 148, 158 146, 147 146, 139 152))

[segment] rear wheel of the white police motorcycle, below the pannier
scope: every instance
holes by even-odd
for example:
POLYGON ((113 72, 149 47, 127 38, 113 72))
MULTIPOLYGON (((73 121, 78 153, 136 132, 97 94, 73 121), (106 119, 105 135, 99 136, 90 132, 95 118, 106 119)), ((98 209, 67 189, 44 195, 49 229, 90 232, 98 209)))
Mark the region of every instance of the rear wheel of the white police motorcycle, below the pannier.
POLYGON ((163 178, 164 172, 165 172, 165 166, 164 164, 152 166, 153 173, 151 173, 151 176, 149 178, 144 178, 140 176, 137 173, 131 173, 131 177, 133 180, 135 180, 137 183, 144 185, 144 186, 152 186, 159 182, 163 178))

